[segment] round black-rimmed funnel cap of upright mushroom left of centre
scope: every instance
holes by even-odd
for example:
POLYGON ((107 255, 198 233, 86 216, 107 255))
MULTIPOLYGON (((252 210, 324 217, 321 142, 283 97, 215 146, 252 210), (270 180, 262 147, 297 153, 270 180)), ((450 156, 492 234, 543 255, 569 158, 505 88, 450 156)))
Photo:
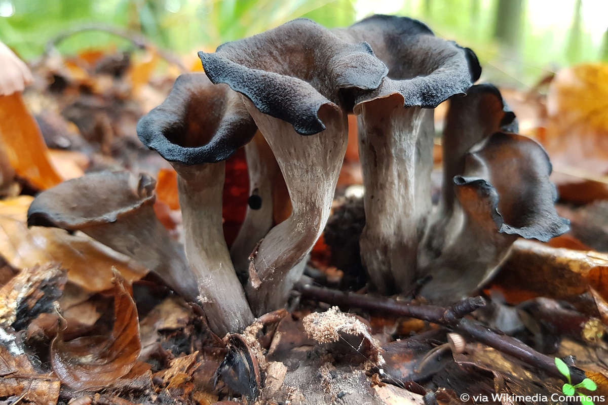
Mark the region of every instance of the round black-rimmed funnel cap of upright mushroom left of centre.
POLYGON ((143 145, 184 165, 225 160, 255 131, 239 95, 204 73, 178 77, 167 99, 137 124, 143 145))

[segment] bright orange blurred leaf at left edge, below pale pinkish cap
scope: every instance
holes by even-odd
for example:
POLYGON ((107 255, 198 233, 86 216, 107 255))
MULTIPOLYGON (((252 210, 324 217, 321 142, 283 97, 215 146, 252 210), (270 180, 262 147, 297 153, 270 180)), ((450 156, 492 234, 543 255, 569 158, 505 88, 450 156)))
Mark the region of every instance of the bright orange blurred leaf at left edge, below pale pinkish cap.
POLYGON ((0 97, 0 148, 16 174, 35 188, 47 189, 63 181, 21 93, 0 97))

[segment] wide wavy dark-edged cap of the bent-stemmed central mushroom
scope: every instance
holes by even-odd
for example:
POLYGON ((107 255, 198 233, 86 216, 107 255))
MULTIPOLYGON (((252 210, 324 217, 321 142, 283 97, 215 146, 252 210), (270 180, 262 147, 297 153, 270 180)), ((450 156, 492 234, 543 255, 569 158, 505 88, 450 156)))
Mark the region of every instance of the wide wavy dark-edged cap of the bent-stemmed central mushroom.
POLYGON ((323 104, 343 104, 345 89, 375 89, 388 71, 367 43, 346 43, 308 19, 199 56, 213 83, 229 84, 301 135, 325 129, 318 115, 323 104))

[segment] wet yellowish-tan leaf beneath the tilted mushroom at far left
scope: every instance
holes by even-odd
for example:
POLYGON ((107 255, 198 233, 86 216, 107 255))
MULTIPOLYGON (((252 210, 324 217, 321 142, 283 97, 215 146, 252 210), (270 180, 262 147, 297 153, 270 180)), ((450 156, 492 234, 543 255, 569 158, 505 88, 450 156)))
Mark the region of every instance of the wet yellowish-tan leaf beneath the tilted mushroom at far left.
POLYGON ((86 237, 55 228, 27 228, 32 197, 0 201, 0 255, 14 268, 61 263, 67 279, 88 291, 112 287, 112 267, 128 281, 139 280, 148 270, 134 260, 86 237))

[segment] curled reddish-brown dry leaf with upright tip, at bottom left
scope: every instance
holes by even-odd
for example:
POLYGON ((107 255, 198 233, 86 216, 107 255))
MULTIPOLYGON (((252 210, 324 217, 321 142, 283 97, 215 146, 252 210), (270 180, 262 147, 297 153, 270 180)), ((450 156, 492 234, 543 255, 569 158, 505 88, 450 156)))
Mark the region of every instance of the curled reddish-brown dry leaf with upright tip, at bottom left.
POLYGON ((63 340, 63 329, 50 347, 54 372, 67 386, 77 390, 112 387, 136 366, 141 350, 137 308, 130 286, 114 273, 114 327, 109 336, 83 336, 63 340))

